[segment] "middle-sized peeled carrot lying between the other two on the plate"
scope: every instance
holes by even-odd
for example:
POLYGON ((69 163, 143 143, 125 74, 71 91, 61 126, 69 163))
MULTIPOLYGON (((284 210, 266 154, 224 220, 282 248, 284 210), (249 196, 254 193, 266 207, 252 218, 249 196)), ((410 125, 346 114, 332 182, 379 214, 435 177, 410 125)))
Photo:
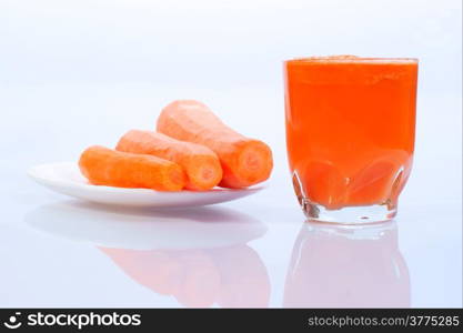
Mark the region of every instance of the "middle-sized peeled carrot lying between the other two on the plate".
POLYGON ((222 179, 219 158, 212 150, 162 133, 131 130, 119 140, 115 150, 150 154, 179 163, 187 172, 187 188, 190 190, 212 189, 222 179))

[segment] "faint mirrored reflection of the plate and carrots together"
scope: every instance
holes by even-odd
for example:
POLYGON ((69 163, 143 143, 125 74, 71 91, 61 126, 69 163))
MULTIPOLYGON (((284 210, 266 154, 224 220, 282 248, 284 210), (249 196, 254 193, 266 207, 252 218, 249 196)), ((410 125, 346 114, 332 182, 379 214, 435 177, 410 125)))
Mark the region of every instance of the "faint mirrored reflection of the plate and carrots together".
POLYGON ((26 216, 34 229, 95 245, 135 282, 185 306, 264 307, 270 281, 246 243, 266 228, 231 209, 153 211, 66 202, 26 216))

